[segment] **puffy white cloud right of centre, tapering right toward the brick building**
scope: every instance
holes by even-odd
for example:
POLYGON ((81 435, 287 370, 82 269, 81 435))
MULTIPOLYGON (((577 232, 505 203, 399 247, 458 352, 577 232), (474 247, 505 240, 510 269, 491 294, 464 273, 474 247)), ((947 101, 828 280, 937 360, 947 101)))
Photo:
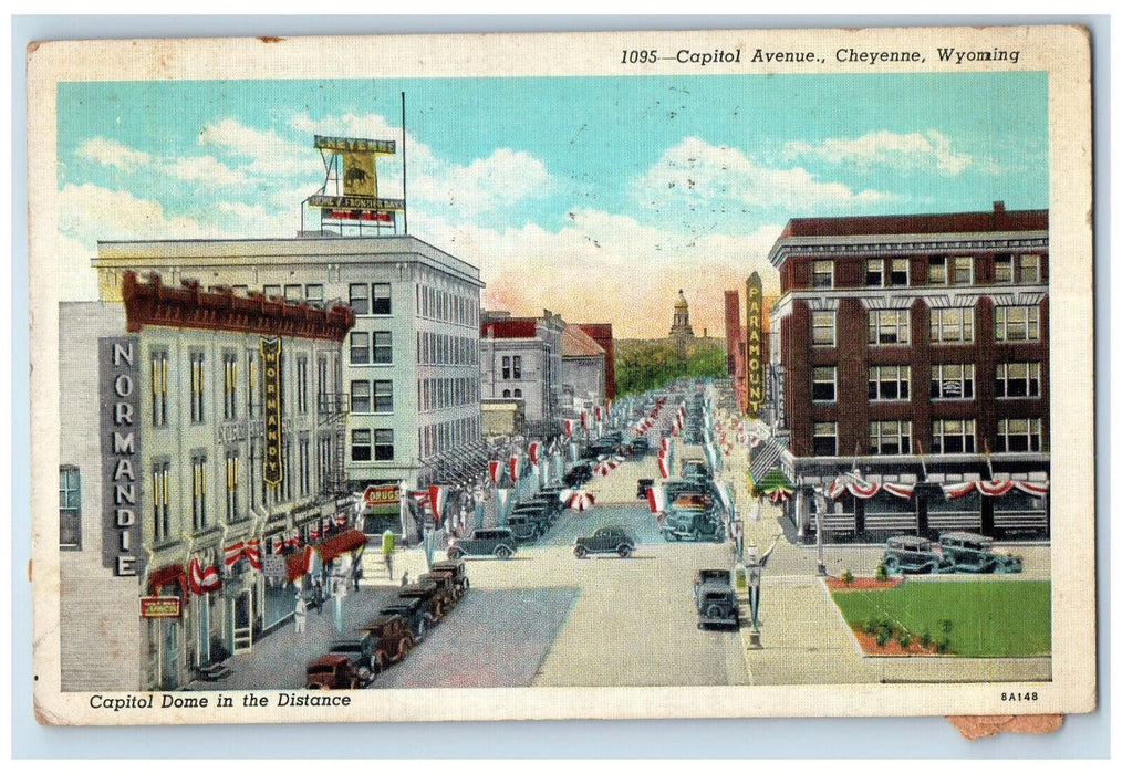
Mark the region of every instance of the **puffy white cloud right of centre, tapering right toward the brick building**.
POLYGON ((636 201, 670 216, 741 220, 754 211, 807 212, 881 202, 891 196, 821 181, 801 168, 769 167, 743 150, 688 137, 632 185, 636 201))

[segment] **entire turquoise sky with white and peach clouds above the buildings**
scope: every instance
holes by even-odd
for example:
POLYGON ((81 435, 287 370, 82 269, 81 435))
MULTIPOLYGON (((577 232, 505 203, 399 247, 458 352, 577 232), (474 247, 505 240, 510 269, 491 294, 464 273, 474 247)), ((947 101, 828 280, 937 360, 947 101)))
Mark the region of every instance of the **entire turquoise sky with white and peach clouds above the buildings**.
MULTIPOLYGON (((790 218, 1048 206, 1040 73, 66 83, 66 297, 99 239, 292 237, 312 136, 401 138, 410 232, 478 265, 485 305, 664 335, 790 218)), ((399 156, 379 160, 401 195, 399 156)))

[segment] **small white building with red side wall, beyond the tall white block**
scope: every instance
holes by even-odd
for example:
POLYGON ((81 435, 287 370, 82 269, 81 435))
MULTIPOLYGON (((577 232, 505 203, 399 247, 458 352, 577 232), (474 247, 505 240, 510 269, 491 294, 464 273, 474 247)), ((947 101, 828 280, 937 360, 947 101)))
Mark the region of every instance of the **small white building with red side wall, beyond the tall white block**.
POLYGON ((481 399, 523 400, 532 437, 560 432, 563 331, 561 315, 549 310, 541 317, 485 316, 480 328, 481 399))

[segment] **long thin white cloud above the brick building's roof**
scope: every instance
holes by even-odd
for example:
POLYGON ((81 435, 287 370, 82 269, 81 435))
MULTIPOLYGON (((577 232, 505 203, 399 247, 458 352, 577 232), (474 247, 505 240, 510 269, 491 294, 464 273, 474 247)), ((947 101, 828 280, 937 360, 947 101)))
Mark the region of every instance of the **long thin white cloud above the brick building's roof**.
POLYGON ((792 160, 809 158, 863 168, 935 169, 950 176, 978 166, 971 156, 953 148, 950 138, 935 130, 909 133, 882 130, 856 138, 830 137, 816 145, 791 140, 783 146, 783 153, 792 160))

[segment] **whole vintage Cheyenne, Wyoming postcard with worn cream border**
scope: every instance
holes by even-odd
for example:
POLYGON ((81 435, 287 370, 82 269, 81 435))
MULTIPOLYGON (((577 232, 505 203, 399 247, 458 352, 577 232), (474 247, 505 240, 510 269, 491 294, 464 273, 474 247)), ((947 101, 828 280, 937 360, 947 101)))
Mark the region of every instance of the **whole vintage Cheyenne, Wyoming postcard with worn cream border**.
POLYGON ((1094 710, 1086 30, 27 62, 39 722, 1094 710))

